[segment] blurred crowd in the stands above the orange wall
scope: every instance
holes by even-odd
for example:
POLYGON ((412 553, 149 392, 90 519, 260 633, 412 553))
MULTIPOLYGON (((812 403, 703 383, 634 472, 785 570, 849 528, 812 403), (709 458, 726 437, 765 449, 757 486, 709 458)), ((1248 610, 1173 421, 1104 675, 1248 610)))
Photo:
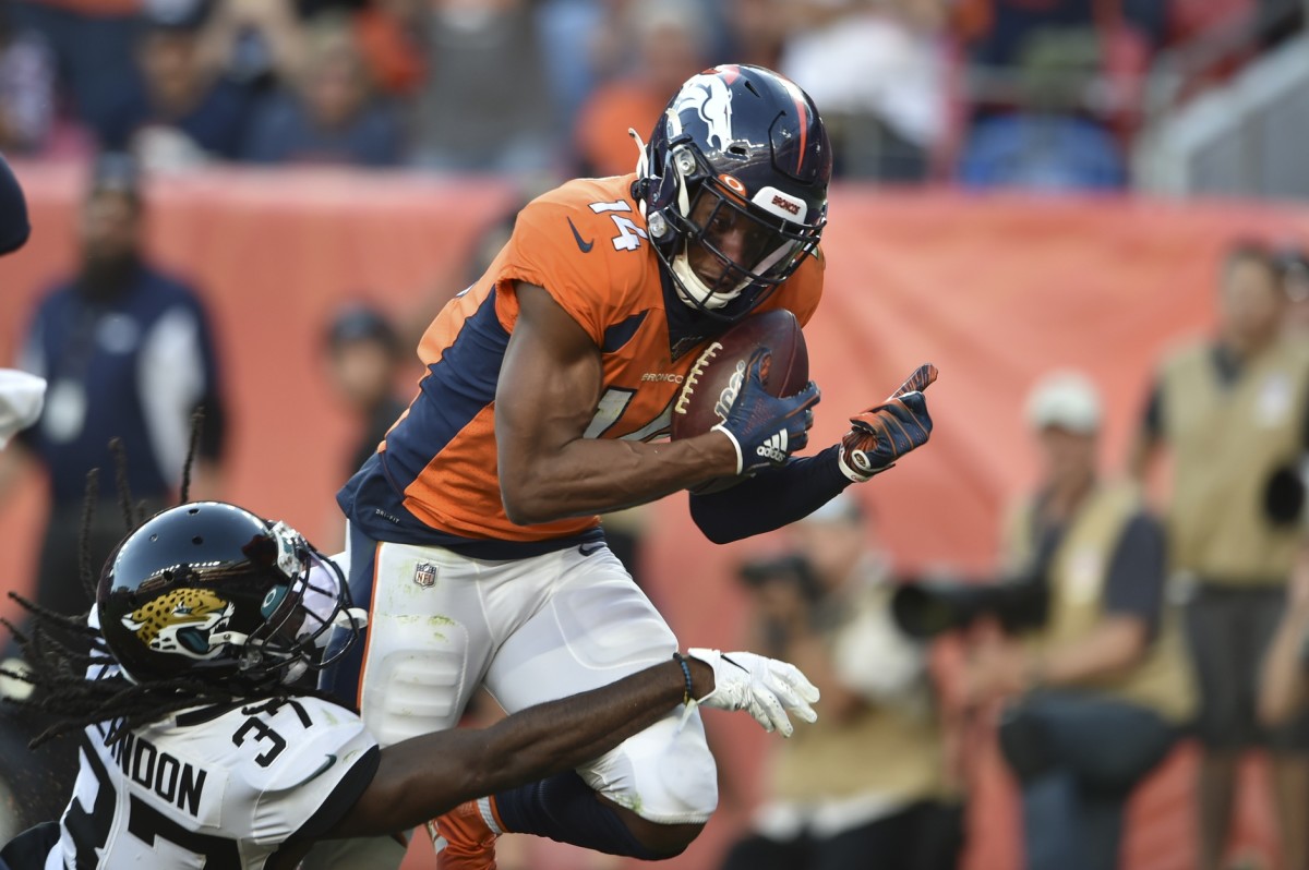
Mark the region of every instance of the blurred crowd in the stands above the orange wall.
POLYGON ((1113 188, 1155 80, 1198 92, 1301 20, 1299 0, 5 0, 0 150, 619 174, 627 130, 732 58, 814 97, 838 177, 1113 188))

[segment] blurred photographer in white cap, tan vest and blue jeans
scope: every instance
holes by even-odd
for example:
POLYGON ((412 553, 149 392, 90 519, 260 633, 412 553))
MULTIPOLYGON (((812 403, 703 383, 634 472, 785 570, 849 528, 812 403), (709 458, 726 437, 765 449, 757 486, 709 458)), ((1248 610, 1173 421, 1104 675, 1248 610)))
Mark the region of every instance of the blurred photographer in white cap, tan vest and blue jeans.
POLYGON ((1194 691, 1164 602, 1164 536, 1136 489, 1101 481, 1101 404, 1072 373, 1037 385, 1028 416, 1042 480, 1004 555, 1045 589, 1037 627, 983 642, 963 675, 1003 700, 1001 752, 1022 790, 1029 870, 1119 866, 1132 789, 1173 746, 1194 691))

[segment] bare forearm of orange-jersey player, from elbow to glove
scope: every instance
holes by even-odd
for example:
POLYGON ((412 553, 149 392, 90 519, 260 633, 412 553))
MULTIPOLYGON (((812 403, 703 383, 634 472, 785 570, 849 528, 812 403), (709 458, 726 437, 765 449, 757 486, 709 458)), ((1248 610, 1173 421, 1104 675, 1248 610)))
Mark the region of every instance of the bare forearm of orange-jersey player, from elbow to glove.
POLYGON ((662 444, 577 438, 521 462, 501 453, 500 496, 509 519, 531 525, 631 508, 734 472, 736 450, 716 432, 662 444))

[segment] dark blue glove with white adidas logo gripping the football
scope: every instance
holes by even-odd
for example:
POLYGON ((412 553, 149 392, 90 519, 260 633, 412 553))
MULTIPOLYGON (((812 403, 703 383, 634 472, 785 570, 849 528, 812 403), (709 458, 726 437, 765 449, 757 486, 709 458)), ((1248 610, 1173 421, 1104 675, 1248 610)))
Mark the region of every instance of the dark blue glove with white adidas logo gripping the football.
POLYGON ((763 366, 768 352, 755 351, 746 362, 737 364, 732 386, 724 390, 720 403, 726 413, 712 432, 732 438, 737 450, 737 474, 750 474, 780 466, 796 450, 809 442, 809 426, 814 424, 813 407, 818 404, 818 385, 813 381, 792 396, 776 398, 763 389, 763 366))

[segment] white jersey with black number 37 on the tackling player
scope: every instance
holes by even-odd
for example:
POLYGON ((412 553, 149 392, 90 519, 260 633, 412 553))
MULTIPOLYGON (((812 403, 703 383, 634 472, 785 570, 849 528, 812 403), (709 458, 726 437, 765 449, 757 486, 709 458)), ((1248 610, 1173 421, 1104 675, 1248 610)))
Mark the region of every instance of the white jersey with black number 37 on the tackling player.
POLYGON ((378 760, 357 716, 314 697, 272 713, 187 710, 113 746, 107 730, 86 729, 46 870, 276 866, 289 837, 319 833, 353 806, 378 760))

